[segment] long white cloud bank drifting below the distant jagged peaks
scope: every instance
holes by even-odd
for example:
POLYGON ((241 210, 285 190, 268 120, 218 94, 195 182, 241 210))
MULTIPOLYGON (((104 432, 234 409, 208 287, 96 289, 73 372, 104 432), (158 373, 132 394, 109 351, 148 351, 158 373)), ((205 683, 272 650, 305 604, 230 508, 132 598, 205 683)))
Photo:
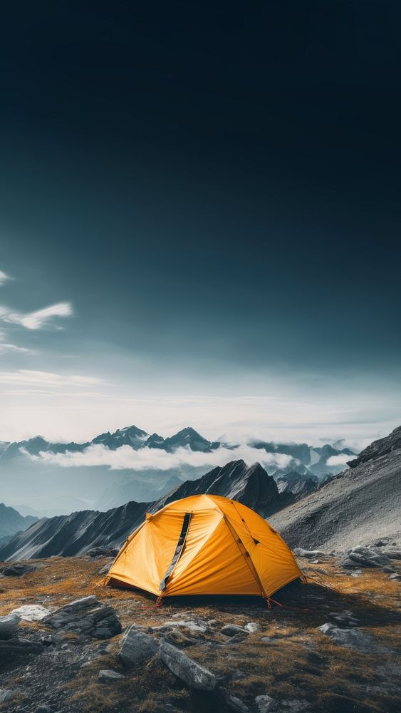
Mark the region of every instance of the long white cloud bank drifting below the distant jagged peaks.
POLYGON ((107 466, 112 470, 129 468, 132 471, 143 471, 155 468, 160 471, 170 471, 171 468, 180 466, 224 466, 229 461, 242 458, 246 463, 258 461, 262 466, 271 466, 270 471, 276 468, 285 468, 291 462, 291 456, 283 453, 266 453, 259 448, 251 446, 238 446, 226 448, 222 446, 212 453, 198 453, 189 448, 177 448, 175 453, 166 453, 158 448, 140 448, 134 451, 130 446, 120 446, 115 451, 96 444, 85 448, 82 453, 51 453, 41 452, 32 456, 23 451, 24 455, 32 461, 42 461, 48 465, 71 468, 75 466, 107 466))

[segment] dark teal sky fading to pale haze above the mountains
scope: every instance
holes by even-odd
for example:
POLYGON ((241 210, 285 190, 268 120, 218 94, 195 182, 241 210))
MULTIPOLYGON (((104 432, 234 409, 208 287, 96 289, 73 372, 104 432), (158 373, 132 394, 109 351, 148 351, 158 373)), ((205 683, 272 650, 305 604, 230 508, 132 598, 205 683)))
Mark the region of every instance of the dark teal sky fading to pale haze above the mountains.
POLYGON ((401 8, 1 9, 0 439, 401 421, 401 8))

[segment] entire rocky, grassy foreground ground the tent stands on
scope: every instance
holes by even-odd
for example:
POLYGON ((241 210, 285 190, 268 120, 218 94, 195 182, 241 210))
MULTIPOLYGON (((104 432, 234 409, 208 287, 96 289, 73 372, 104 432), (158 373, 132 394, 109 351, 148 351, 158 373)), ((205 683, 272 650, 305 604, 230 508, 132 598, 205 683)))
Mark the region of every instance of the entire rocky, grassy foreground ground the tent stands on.
POLYGON ((281 590, 271 610, 242 597, 155 607, 103 588, 102 556, 2 565, 0 710, 400 710, 400 550, 382 541, 297 557, 313 579, 281 590))

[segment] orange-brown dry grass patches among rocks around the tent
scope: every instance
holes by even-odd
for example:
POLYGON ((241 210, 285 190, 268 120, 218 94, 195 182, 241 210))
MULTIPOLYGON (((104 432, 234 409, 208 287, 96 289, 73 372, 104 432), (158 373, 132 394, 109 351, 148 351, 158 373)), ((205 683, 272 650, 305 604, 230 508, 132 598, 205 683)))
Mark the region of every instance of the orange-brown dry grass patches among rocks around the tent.
MULTIPOLYGON (((326 570, 324 580, 338 592, 316 583, 296 583, 276 595, 285 607, 272 610, 262 600, 244 597, 176 598, 155 608, 154 597, 144 593, 103 588, 98 570, 105 560, 51 558, 38 563, 41 569, 23 578, 1 580, 0 615, 22 604, 59 606, 95 594, 115 607, 123 626, 132 622, 161 625, 175 614, 183 619, 196 616, 217 620, 212 632, 207 632, 207 642, 199 635, 199 643, 187 652, 216 673, 231 694, 250 706, 256 695, 269 694, 276 699, 306 699, 314 711, 322 713, 400 710, 396 679, 389 669, 390 651, 380 657, 358 653, 333 644, 317 630, 330 620, 329 612, 350 610, 363 630, 373 634, 380 645, 395 650, 400 641, 400 583, 389 580, 380 570, 365 570, 359 578, 353 578, 335 560, 327 559, 318 566, 326 570), (240 643, 228 641, 220 633, 226 623, 244 625, 249 621, 259 622, 262 630, 240 643), (269 643, 262 640, 266 637, 269 643), (241 679, 233 679, 235 670, 241 672, 241 679)), ((43 628, 40 622, 36 626, 43 628)), ((192 635, 187 630, 183 633, 192 635)), ((156 713, 165 702, 183 712, 226 709, 217 694, 187 689, 157 659, 127 673, 118 662, 118 646, 119 637, 115 637, 108 655, 83 667, 66 684, 71 704, 85 713, 156 713), (102 684, 98 682, 98 671, 105 668, 123 672, 126 677, 118 684, 102 684)))

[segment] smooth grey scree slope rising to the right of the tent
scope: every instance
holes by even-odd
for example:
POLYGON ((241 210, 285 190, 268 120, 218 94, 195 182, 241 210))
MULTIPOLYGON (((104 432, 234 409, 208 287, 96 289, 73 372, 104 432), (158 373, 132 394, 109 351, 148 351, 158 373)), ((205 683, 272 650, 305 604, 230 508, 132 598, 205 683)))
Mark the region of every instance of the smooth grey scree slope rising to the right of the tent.
POLYGON ((291 547, 345 550, 401 538, 401 427, 371 443, 327 485, 273 515, 291 547))

